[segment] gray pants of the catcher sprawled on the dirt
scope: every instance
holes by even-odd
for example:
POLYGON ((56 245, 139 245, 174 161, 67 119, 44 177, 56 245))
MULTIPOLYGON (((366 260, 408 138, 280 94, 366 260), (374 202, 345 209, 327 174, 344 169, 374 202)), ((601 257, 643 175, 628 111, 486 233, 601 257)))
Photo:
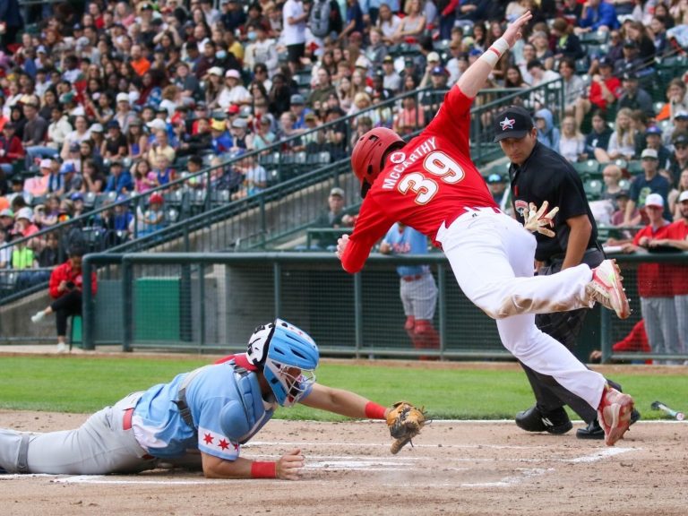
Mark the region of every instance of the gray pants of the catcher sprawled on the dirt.
POLYGON ((0 429, 0 467, 9 473, 95 475, 154 469, 157 460, 124 429, 125 410, 140 393, 93 414, 79 428, 49 434, 0 429), (150 456, 148 456, 150 457, 150 456))

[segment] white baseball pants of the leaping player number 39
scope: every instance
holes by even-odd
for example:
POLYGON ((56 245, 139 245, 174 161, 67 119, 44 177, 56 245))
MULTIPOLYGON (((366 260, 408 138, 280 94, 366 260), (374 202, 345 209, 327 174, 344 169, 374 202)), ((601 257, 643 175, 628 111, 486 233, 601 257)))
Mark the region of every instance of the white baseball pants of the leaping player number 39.
POLYGON ((588 265, 533 276, 536 239, 519 222, 491 208, 467 209, 437 233, 463 293, 496 320, 504 348, 540 374, 598 409, 605 378, 590 371, 535 325, 535 314, 593 305, 588 265))

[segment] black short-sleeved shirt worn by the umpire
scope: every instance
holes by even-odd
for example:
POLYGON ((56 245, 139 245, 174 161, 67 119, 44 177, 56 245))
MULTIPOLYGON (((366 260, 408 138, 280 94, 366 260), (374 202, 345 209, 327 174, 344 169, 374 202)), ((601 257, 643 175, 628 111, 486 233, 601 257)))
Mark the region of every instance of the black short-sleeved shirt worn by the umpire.
POLYGON ((521 167, 511 164, 509 176, 512 180, 513 209, 521 224, 528 216, 529 202, 534 202, 538 208, 542 202, 549 202, 549 210, 559 207, 555 216, 555 237, 535 234, 538 240, 535 259, 538 262, 563 259, 571 232, 566 220, 583 214, 588 215, 592 226, 588 248, 597 247, 598 227, 592 217, 581 177, 562 155, 536 142, 521 167))

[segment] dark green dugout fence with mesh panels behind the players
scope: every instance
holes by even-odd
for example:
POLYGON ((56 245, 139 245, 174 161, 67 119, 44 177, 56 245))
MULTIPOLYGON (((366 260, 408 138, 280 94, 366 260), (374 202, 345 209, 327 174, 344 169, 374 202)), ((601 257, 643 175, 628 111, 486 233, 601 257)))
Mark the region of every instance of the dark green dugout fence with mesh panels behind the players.
MULTIPOLYGON (((672 355, 612 351, 613 343, 641 319, 638 265, 674 262, 688 272, 688 254, 618 255, 617 260, 634 312, 621 321, 607 310, 593 309, 579 338, 581 360, 587 361, 592 349, 601 349, 604 361, 688 359, 688 350, 672 355)), ((125 350, 233 351, 245 348, 256 324, 283 317, 311 332, 331 356, 510 357, 495 324, 463 296, 439 253, 371 254, 366 269, 353 276, 331 253, 87 256, 84 272, 97 270, 107 288, 99 288, 96 297, 90 296, 90 287, 84 290, 86 348, 121 342, 125 350), (413 348, 403 329, 396 267, 421 263, 430 266, 439 290, 435 349, 413 348)), ((677 323, 688 314, 675 317, 677 323)))

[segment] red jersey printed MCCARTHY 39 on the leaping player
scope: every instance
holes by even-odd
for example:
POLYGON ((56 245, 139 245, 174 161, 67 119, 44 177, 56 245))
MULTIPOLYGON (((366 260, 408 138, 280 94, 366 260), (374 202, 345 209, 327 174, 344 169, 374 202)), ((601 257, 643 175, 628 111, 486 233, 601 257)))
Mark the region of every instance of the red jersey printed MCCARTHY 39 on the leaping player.
POLYGON ((472 102, 458 86, 452 87, 423 133, 387 157, 341 257, 346 271, 360 271, 375 242, 395 222, 417 229, 438 245, 437 231, 443 223, 449 227, 464 208, 497 209, 470 159, 472 102))

